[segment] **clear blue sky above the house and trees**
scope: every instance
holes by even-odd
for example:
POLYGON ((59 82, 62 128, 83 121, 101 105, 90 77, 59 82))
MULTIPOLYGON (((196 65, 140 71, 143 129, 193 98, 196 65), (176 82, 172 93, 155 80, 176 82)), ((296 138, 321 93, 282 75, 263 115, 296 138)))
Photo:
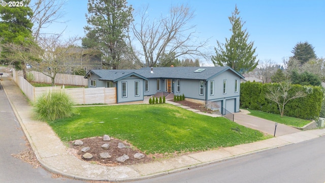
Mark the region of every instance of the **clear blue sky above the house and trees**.
MULTIPOLYGON (((65 37, 83 37, 83 27, 87 24, 86 0, 69 0, 62 18, 65 23, 55 23, 44 32, 64 32, 65 37)), ((315 48, 318 57, 325 57, 325 0, 215 0, 215 1, 155 1, 128 0, 135 11, 149 5, 150 18, 167 14, 172 5, 186 4, 195 11, 195 17, 190 22, 196 25, 197 36, 209 39, 209 52, 215 54, 216 40, 224 43, 225 38, 231 37, 231 24, 228 17, 235 10, 240 11, 240 17, 246 21, 244 28, 249 33, 249 41, 254 41, 257 58, 271 59, 282 63, 283 57, 292 56, 291 50, 298 42, 307 41, 315 48)), ((211 60, 201 60, 202 64, 212 64, 211 60)))

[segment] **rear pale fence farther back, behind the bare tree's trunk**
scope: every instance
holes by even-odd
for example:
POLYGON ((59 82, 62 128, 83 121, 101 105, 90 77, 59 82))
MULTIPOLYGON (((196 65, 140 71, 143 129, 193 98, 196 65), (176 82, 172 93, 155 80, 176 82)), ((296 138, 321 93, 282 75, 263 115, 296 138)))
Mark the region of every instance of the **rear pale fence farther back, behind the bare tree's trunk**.
MULTIPOLYGON (((51 83, 52 80, 50 77, 44 75, 41 72, 30 71, 35 76, 35 82, 42 83, 51 83)), ((60 74, 57 73, 54 79, 56 84, 70 84, 70 85, 79 85, 79 86, 87 86, 88 80, 83 76, 79 75, 71 75, 71 74, 60 74)))

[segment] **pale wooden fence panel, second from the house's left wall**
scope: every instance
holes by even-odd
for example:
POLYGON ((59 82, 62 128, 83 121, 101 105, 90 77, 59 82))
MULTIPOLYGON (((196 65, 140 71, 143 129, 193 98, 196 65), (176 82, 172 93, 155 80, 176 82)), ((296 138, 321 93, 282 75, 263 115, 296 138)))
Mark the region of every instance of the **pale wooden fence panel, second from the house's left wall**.
POLYGON ((105 104, 105 87, 85 88, 85 104, 105 104))

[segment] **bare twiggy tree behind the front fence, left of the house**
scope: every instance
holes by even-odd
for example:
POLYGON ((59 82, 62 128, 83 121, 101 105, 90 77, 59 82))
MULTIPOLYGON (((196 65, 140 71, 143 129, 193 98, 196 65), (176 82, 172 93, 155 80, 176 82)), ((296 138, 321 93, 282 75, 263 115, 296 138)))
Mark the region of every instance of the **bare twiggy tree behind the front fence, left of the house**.
POLYGON ((76 58, 80 57, 78 53, 71 51, 79 39, 74 37, 69 40, 62 40, 61 35, 40 37, 39 45, 42 50, 39 55, 42 61, 32 63, 33 70, 50 77, 52 86, 54 86, 56 74, 66 72, 74 64, 76 58))

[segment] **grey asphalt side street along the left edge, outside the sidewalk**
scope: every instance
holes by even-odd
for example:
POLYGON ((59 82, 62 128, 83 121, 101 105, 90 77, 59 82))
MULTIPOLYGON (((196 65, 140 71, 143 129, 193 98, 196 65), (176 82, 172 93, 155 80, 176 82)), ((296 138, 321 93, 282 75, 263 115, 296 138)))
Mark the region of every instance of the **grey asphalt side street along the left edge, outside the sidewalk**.
POLYGON ((29 163, 14 158, 25 148, 24 133, 10 106, 7 96, 0 89, 0 182, 85 182, 67 178, 51 178, 43 168, 33 168, 29 163))

